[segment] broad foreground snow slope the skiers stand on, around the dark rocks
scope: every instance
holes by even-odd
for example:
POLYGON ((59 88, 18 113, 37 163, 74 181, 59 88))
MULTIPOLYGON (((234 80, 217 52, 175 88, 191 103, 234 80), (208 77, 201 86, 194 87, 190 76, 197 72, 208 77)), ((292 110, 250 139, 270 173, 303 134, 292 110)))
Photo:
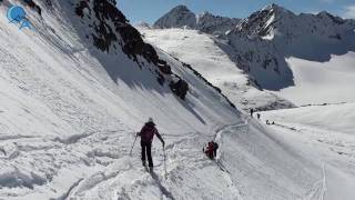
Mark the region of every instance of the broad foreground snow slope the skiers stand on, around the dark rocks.
MULTIPOLYGON (((0 199, 354 199, 354 157, 332 156, 335 138, 301 149, 305 138, 232 109, 158 49, 190 83, 182 101, 143 58, 141 69, 120 50, 103 53, 82 40, 89 29, 73 1, 36 2, 45 8, 43 18, 29 11, 36 30, 19 31, 4 17, 9 3, 0 7, 0 199), (129 154, 148 117, 166 141, 163 151, 154 140, 151 173, 139 142, 129 154), (214 138, 217 162, 202 153, 214 138)), ((352 153, 353 140, 343 144, 352 153)))

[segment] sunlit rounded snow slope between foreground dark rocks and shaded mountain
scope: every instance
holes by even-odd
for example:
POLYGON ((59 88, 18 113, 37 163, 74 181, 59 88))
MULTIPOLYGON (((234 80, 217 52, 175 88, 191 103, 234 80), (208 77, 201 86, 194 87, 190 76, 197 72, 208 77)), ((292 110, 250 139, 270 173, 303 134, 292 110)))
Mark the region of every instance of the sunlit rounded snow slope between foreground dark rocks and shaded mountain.
POLYGON ((293 107, 273 93, 254 88, 253 81, 230 60, 211 36, 195 30, 136 28, 148 42, 191 64, 239 108, 264 110, 293 107))

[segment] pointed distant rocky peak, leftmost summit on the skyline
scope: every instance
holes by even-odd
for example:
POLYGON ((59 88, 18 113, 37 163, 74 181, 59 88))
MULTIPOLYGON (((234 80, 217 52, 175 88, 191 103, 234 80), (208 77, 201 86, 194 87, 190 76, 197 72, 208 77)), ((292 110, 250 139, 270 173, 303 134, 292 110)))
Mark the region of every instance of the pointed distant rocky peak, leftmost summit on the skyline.
POLYGON ((182 27, 194 29, 196 27, 196 16, 186 6, 178 6, 160 18, 153 27, 160 29, 182 27))

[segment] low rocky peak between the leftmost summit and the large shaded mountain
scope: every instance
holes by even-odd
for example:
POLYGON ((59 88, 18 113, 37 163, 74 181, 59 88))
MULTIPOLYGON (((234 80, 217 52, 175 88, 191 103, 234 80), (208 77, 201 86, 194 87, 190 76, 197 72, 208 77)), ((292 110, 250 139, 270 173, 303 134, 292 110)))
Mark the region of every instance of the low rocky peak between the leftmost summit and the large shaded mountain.
POLYGON ((210 34, 224 34, 226 31, 235 28, 239 22, 240 19, 231 19, 204 12, 197 16, 197 30, 210 34))

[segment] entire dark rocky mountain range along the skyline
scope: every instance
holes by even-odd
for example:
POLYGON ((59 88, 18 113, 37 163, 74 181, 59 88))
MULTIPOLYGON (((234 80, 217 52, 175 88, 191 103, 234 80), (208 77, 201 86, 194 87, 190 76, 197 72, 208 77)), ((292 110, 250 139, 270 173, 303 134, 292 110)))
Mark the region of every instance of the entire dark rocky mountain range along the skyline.
POLYGON ((193 13, 183 6, 178 8, 159 19, 154 27, 180 28, 184 24, 206 33, 223 33, 214 37, 215 42, 261 89, 277 91, 294 86, 286 58, 325 62, 331 54, 355 51, 355 21, 325 11, 295 14, 270 4, 242 20, 205 13, 189 26, 184 16, 193 13), (179 23, 175 23, 176 19, 179 23))

